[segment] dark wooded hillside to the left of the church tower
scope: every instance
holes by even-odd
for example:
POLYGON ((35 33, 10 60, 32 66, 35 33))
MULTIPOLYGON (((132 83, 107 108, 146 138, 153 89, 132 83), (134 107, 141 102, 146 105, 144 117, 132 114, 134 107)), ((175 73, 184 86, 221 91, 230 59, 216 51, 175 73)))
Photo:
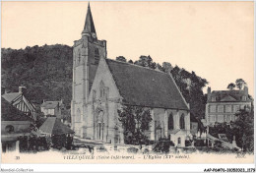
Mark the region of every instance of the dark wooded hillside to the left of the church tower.
POLYGON ((72 47, 44 45, 25 49, 2 48, 2 86, 10 91, 27 87, 32 102, 63 99, 70 105, 72 96, 72 47))

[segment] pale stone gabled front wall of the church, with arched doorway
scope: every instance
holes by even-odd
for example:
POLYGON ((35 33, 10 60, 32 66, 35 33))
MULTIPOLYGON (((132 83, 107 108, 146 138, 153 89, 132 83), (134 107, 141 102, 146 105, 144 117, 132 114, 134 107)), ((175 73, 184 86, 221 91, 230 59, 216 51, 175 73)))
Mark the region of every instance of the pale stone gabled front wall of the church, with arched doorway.
POLYGON ((96 78, 88 99, 87 137, 92 140, 100 140, 106 143, 120 141, 117 108, 120 95, 112 79, 105 60, 99 60, 96 78), (102 87, 103 86, 103 87, 102 87), (104 96, 100 96, 100 90, 104 90, 104 96), (102 120, 98 120, 98 112, 102 111, 102 120), (100 124, 100 125, 99 125, 100 124), (100 127, 99 127, 100 126, 100 127), (103 127, 102 127, 103 126, 103 127), (99 129, 101 128, 100 134, 99 129), (100 136, 100 137, 99 137, 100 136))

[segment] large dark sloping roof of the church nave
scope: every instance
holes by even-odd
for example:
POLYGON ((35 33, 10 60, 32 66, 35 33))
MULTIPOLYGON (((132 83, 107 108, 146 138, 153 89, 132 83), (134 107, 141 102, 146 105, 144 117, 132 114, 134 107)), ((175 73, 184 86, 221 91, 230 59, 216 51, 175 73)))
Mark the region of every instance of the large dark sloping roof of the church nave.
POLYGON ((106 59, 124 102, 131 105, 188 110, 171 77, 163 72, 106 59))

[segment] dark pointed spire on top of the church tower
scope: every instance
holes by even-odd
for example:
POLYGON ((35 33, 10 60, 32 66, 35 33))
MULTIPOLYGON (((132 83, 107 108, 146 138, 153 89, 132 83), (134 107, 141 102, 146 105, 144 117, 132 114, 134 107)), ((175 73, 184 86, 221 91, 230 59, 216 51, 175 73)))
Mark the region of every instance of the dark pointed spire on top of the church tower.
POLYGON ((86 18, 86 24, 84 27, 84 30, 82 31, 82 35, 84 34, 90 34, 94 37, 96 37, 96 28, 90 8, 90 3, 88 4, 88 11, 87 11, 87 18, 86 18))

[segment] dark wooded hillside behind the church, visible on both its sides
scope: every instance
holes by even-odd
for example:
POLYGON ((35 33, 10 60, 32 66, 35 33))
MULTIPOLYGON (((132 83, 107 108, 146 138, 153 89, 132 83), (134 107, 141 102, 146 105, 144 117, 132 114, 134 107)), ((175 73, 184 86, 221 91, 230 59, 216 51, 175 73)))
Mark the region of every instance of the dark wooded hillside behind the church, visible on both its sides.
MULTIPOLYGON (((18 91, 21 85, 26 86, 27 96, 37 105, 46 100, 63 99, 69 108, 72 98, 72 47, 67 45, 33 46, 25 49, 2 48, 2 86, 10 91, 18 91)), ((126 61, 125 57, 116 57, 126 61)), ((152 69, 158 68, 172 74, 177 86, 190 103, 191 112, 195 117, 204 117, 206 96, 203 87, 208 82, 198 77, 195 72, 187 72, 178 66, 172 67, 164 62, 162 66, 150 56, 141 56, 133 63, 152 69)))

